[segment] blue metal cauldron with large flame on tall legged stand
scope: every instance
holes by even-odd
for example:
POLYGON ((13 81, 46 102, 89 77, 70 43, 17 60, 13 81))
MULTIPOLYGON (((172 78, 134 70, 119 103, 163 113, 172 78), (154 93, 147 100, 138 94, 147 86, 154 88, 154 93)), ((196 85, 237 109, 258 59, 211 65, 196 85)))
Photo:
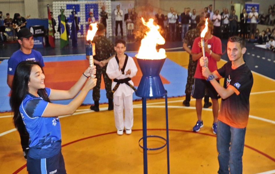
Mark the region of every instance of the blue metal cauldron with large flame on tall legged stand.
POLYGON ((159 73, 162 69, 166 59, 165 50, 156 50, 156 45, 163 45, 165 39, 160 35, 159 26, 153 24, 153 19, 145 22, 141 18, 143 25, 149 28, 145 37, 141 40, 139 52, 136 55, 137 62, 142 71, 141 81, 139 82, 136 96, 142 97, 142 124, 143 124, 143 137, 139 139, 139 146, 143 148, 143 173, 148 173, 147 165, 147 150, 158 150, 167 146, 167 173, 170 173, 169 165, 169 134, 168 134, 168 107, 167 107, 167 91, 164 89, 159 73), (146 114, 146 99, 159 98, 165 96, 165 110, 166 110, 166 139, 157 135, 147 135, 147 114, 146 114), (158 148, 148 148, 147 138, 156 137, 163 139, 166 143, 158 148), (143 146, 140 141, 143 140, 143 146))

